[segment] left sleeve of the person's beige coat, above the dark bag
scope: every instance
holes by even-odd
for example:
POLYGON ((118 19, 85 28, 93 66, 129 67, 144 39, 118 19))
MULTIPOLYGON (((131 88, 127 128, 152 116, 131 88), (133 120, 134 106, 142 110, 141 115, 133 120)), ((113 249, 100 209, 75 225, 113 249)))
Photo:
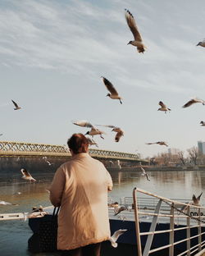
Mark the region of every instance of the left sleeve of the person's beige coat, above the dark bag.
POLYGON ((64 185, 65 185, 65 173, 62 170, 62 168, 58 168, 53 180, 52 180, 52 185, 50 187, 50 201, 52 205, 55 207, 61 206, 62 202, 62 192, 64 190, 64 185))

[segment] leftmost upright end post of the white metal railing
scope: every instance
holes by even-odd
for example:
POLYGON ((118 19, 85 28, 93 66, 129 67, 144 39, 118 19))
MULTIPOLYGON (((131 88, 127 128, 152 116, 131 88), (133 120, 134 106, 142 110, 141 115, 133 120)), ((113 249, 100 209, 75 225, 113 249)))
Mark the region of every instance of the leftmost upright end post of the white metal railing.
POLYGON ((134 218, 135 218, 135 231, 136 231, 136 240, 137 240, 137 249, 138 249, 138 256, 142 256, 142 247, 141 247, 141 240, 140 240, 140 230, 139 230, 139 213, 138 213, 138 204, 137 204, 137 197, 136 197, 136 188, 133 190, 133 202, 134 202, 134 218))

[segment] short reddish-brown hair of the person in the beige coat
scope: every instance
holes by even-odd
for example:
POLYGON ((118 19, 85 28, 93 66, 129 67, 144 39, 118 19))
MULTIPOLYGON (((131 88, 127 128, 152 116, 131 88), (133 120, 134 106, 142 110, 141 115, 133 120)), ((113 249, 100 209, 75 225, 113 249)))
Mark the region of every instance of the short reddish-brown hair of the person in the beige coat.
POLYGON ((74 134, 67 140, 67 145, 75 154, 86 153, 89 147, 89 141, 82 134, 74 134))

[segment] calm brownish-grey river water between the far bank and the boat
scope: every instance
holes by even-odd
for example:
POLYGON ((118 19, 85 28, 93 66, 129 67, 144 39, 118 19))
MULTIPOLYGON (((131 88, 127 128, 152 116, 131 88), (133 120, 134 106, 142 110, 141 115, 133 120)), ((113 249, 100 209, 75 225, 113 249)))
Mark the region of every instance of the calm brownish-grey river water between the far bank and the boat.
MULTIPOLYGON (((191 199, 193 194, 200 194, 205 188, 205 171, 149 171, 151 181, 141 176, 139 171, 113 172, 114 187, 109 194, 113 201, 132 196, 134 187, 172 199, 191 199)), ((43 171, 32 176, 38 181, 30 184, 21 179, 21 174, 0 174, 0 200, 18 203, 18 206, 0 205, 0 213, 30 212, 33 206, 50 205, 48 192, 53 172, 43 171), (20 192, 18 194, 18 192, 20 192)), ((204 197, 201 204, 205 204, 204 197)), ((28 221, 0 221, 1 256, 54 256, 58 254, 34 254, 28 251, 28 239, 32 235, 28 221)))

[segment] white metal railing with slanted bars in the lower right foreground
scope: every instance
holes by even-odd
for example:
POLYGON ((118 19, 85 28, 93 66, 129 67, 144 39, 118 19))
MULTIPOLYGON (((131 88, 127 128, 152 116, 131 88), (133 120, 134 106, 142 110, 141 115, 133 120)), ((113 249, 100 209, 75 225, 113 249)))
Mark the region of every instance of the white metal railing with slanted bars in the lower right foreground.
POLYGON ((192 203, 183 203, 172 199, 166 199, 162 196, 158 196, 157 194, 152 194, 148 191, 140 190, 138 188, 134 188, 133 190, 133 202, 138 256, 148 256, 149 254, 153 254, 162 249, 168 249, 169 256, 189 256, 192 254, 196 254, 203 249, 205 245, 205 241, 203 241, 205 229, 203 228, 202 231, 202 227, 204 227, 205 220, 204 216, 201 215, 201 211, 205 212, 205 208, 193 205, 192 203), (143 208, 144 211, 141 212, 140 210, 142 209, 142 207, 140 206, 140 203, 138 203, 139 199, 137 198, 137 193, 144 194, 150 197, 150 202, 154 201, 155 203, 147 204, 151 205, 151 207, 149 206, 148 208, 143 208), (182 210, 183 206, 185 206, 186 210, 182 210), (191 210, 193 211, 193 208, 194 211, 198 213, 198 215, 191 214, 191 210), (142 215, 153 217, 149 231, 140 231, 139 222, 141 222, 140 216, 142 215), (176 218, 180 218, 180 227, 177 227, 175 225, 176 218), (169 229, 157 231, 157 222, 169 222, 169 229), (194 229, 197 230, 195 231, 197 232, 197 235, 191 235, 194 229), (183 235, 180 235, 181 240, 175 240, 176 232, 184 232, 183 235), (153 237, 157 234, 168 235, 167 245, 163 245, 158 248, 152 248, 153 237), (147 235, 147 240, 144 246, 144 251, 142 252, 141 237, 144 235, 147 235), (195 242, 194 245, 191 246, 192 240, 197 240, 197 242, 195 242), (174 254, 175 247, 182 245, 182 243, 186 243, 186 249, 183 252, 180 252, 180 254, 174 254))

